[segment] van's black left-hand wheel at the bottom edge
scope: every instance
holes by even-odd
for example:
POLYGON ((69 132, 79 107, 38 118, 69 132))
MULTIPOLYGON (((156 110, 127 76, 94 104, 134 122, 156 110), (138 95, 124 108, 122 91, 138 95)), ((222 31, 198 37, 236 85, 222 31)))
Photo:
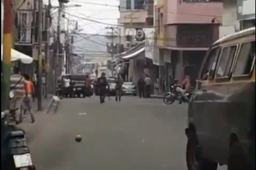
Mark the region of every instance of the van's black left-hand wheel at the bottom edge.
POLYGON ((188 139, 186 148, 188 170, 217 170, 218 163, 200 157, 200 147, 196 139, 188 139))

